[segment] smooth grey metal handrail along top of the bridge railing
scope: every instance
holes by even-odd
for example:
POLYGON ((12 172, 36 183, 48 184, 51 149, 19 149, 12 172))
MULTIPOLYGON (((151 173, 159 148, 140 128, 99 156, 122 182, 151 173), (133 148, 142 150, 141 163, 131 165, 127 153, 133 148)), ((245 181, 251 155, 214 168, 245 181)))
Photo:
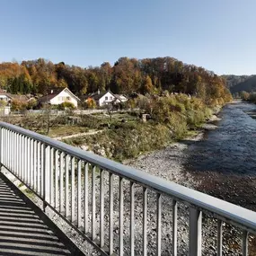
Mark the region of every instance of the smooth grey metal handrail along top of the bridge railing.
POLYGON ((236 206, 221 199, 216 199, 212 196, 197 190, 186 188, 172 181, 165 181, 162 178, 156 177, 147 172, 142 172, 122 163, 117 163, 104 158, 100 155, 86 152, 78 147, 69 146, 63 142, 40 135, 31 130, 20 128, 2 121, 0 121, 0 128, 6 128, 24 136, 31 137, 41 143, 61 150, 66 154, 71 154, 81 160, 93 163, 102 169, 116 173, 128 180, 136 181, 137 183, 141 183, 146 187, 157 190, 171 196, 172 198, 180 199, 190 205, 207 210, 217 216, 224 217, 227 220, 231 220, 235 224, 245 226, 248 230, 256 233, 256 212, 253 212, 252 210, 236 206))

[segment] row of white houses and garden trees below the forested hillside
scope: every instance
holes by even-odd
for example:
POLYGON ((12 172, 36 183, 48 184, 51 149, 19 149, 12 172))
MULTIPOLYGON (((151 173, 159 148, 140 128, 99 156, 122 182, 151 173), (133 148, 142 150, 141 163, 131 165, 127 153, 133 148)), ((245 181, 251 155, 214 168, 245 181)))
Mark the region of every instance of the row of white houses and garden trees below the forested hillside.
MULTIPOLYGON (((133 95, 136 97, 137 95, 133 95)), ((114 94, 110 91, 84 94, 77 97, 67 87, 50 88, 48 94, 39 95, 21 95, 7 93, 0 89, 0 114, 9 115, 11 112, 22 112, 24 110, 42 110, 44 108, 52 108, 58 110, 66 109, 119 109, 122 104, 128 102, 129 97, 123 94, 114 94)))

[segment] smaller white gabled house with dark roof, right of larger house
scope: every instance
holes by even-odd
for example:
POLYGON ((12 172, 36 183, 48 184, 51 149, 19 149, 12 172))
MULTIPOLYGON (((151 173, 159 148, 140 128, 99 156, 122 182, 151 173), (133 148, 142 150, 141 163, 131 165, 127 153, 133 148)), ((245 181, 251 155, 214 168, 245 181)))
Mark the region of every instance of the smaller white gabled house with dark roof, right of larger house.
POLYGON ((98 91, 98 93, 93 93, 91 95, 87 95, 87 100, 91 98, 93 99, 98 106, 102 107, 105 105, 110 104, 110 102, 114 103, 120 103, 120 102, 127 102, 128 99, 124 95, 114 94, 110 91, 101 93, 98 91))

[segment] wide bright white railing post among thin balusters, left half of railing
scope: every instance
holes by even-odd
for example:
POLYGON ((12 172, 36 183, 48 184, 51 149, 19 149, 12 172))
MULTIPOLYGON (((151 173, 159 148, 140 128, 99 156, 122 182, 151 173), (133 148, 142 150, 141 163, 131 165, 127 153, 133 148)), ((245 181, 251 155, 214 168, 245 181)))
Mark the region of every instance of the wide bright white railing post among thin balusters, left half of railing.
POLYGON ((49 169, 50 169, 50 146, 43 145, 43 184, 44 184, 44 192, 43 192, 43 209, 45 211, 47 207, 47 202, 49 202, 49 169))

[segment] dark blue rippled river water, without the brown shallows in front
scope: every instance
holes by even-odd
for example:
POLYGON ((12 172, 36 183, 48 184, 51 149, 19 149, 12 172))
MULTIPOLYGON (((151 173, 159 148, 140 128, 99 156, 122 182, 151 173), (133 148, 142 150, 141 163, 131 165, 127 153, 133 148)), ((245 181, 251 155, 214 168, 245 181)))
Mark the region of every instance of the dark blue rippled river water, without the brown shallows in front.
POLYGON ((256 105, 228 104, 219 117, 218 128, 189 146, 186 167, 191 171, 256 176, 256 105))

